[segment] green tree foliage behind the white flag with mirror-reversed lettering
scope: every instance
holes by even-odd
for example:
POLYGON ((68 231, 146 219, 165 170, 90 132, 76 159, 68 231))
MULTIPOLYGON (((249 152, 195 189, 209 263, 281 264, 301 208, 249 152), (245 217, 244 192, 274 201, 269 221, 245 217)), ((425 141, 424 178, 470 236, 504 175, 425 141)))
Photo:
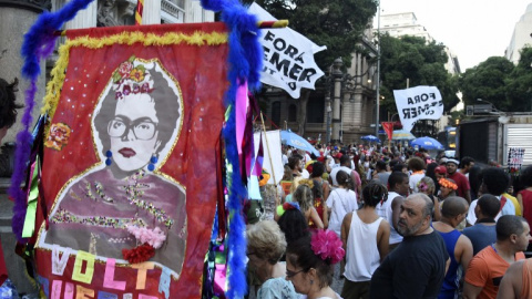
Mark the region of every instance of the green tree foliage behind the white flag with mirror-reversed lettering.
POLYGON ((444 68, 448 56, 442 43, 427 43, 424 38, 406 35, 398 39, 382 34, 380 45, 380 93, 385 96, 381 105, 390 113, 397 112, 393 90, 406 89, 407 80, 410 87, 437 86, 443 97, 446 112, 459 103, 458 80, 444 68))

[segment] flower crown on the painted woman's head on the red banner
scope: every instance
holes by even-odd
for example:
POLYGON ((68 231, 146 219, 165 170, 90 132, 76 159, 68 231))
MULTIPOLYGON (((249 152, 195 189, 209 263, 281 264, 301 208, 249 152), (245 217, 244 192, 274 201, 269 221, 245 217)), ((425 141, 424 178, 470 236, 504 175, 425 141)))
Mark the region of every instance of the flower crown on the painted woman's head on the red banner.
POLYGON ((122 62, 114 71, 112 79, 116 100, 122 100, 131 93, 151 93, 153 91, 152 75, 135 56, 122 62))

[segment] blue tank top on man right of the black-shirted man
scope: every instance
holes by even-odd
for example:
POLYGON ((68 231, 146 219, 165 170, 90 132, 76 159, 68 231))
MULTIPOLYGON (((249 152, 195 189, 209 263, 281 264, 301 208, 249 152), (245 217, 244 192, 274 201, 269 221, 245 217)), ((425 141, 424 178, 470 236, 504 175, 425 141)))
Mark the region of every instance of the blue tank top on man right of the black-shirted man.
MULTIPOLYGON (((438 231, 438 230, 437 230, 438 231)), ((451 258, 451 264, 447 270, 446 278, 443 279, 443 285, 441 286, 440 293, 438 299, 454 299, 454 292, 458 290, 460 277, 458 276, 458 267, 460 264, 454 257, 454 248, 457 246, 458 239, 462 235, 459 230, 453 229, 449 233, 438 231, 443 238, 447 247, 447 254, 451 258)))

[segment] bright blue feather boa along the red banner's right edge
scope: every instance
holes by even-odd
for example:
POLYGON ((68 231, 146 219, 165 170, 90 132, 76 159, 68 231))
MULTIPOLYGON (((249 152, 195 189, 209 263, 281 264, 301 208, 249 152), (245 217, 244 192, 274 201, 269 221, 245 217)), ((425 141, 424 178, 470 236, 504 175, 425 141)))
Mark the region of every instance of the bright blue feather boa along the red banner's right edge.
POLYGON ((226 145, 226 157, 231 165, 228 173, 228 289, 227 298, 243 298, 247 293, 246 283, 246 226, 243 218, 243 203, 247 189, 241 178, 238 152, 236 148, 235 100, 238 82, 247 81, 250 91, 260 87, 260 70, 263 49, 258 42, 259 30, 257 19, 248 14, 247 9, 235 0, 202 0, 205 9, 222 11, 222 20, 229 29, 228 80, 229 89, 225 94, 228 118, 223 132, 226 145))

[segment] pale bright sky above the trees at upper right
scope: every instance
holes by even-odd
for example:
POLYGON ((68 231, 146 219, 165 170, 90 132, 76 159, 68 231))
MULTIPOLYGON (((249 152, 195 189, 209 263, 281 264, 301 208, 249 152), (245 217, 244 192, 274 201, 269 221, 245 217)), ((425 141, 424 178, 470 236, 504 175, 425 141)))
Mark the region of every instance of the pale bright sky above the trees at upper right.
MULTIPOLYGON (((381 0, 381 14, 415 12, 418 23, 458 55, 460 68, 504 55, 530 0, 381 0)), ((531 28, 532 33, 532 28, 531 28)), ((532 38, 531 38, 532 43, 532 38)))

